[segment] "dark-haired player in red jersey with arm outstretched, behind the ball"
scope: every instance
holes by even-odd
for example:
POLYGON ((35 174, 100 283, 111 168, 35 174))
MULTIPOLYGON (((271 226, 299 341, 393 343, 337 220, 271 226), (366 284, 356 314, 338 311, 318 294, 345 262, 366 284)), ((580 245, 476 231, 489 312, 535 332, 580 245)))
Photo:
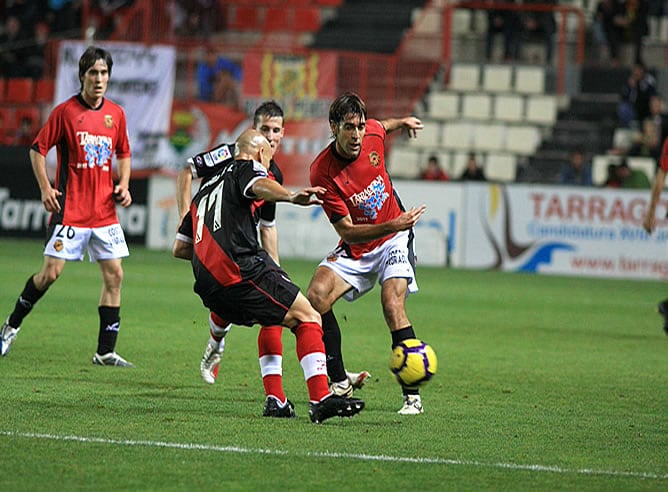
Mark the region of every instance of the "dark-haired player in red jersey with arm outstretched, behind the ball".
MULTIPOLYGON (((383 314, 392 346, 416 338, 406 315, 405 298, 417 291, 413 227, 425 206, 405 211, 385 168, 385 137, 405 129, 415 136, 423 128, 413 116, 367 120, 366 105, 345 93, 329 108, 334 142, 311 164, 311 185, 322 186, 322 208, 341 238, 318 266, 307 296, 322 315, 327 372, 337 394, 352 394, 341 355, 341 331, 332 306, 341 297, 353 301, 381 285, 383 314)), ((422 413, 417 388, 402 388, 402 415, 422 413)))

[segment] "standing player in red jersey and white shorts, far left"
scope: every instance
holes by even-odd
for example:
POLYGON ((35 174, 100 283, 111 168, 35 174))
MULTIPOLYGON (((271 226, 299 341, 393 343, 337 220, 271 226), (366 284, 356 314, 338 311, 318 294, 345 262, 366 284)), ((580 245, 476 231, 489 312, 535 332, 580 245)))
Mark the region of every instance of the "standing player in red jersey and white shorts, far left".
POLYGON ((130 143, 123 109, 106 99, 111 54, 89 47, 79 59, 81 90, 56 106, 30 149, 32 168, 44 208, 51 212, 41 270, 31 276, 14 311, 2 326, 0 353, 6 355, 23 319, 63 271, 65 262, 81 261, 88 252, 102 272, 98 345, 93 363, 132 367, 116 354, 120 329, 121 259, 128 247, 116 215, 116 204, 128 207, 130 143), (55 186, 46 169, 46 155, 56 147, 55 186), (112 157, 116 155, 118 183, 112 157))

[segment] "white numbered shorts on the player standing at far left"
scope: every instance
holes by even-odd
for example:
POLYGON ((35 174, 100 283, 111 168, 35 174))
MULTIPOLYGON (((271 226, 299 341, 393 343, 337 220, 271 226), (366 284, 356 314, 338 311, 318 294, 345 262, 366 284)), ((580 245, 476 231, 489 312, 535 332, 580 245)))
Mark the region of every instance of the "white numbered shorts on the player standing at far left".
POLYGON ((83 261, 86 251, 91 262, 130 255, 120 224, 93 228, 56 224, 44 247, 44 256, 83 261))

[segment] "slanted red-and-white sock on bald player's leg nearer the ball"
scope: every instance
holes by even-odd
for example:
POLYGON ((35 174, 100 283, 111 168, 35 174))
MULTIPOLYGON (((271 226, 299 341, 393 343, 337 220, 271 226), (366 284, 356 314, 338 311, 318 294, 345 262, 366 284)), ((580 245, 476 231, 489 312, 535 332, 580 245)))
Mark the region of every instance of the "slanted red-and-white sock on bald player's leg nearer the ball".
POLYGON ((304 371, 309 399, 319 402, 329 395, 325 344, 322 327, 317 323, 302 323, 295 330, 297 336, 297 358, 304 371))

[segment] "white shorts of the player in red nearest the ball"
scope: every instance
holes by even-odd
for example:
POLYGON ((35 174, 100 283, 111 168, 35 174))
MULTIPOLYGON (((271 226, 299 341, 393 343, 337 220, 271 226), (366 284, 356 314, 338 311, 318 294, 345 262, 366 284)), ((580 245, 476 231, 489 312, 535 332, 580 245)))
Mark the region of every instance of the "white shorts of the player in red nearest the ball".
POLYGON ((412 234, 402 231, 375 250, 364 253, 359 260, 351 258, 344 248, 338 247, 319 266, 330 268, 353 287, 343 295, 348 302, 369 292, 376 281, 382 285, 388 278, 407 279, 408 295, 418 291, 412 249, 412 234))

